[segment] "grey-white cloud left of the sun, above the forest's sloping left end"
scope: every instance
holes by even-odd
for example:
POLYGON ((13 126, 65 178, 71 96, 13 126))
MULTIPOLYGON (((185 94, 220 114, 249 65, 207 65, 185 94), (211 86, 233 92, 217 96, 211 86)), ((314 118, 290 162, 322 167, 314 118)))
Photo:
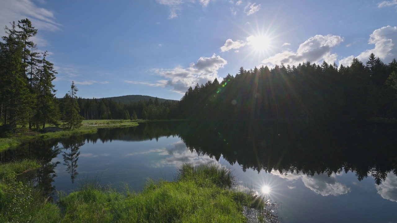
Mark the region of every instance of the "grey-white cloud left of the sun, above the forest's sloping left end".
MULTIPOLYGON (((141 83, 156 87, 172 87, 172 91, 185 94, 187 88, 198 84, 214 81, 218 77, 218 70, 223 68, 227 61, 215 54, 212 57, 200 57, 197 63, 191 63, 189 67, 181 66, 173 69, 152 69, 152 72, 167 80, 158 83, 141 83)), ((131 83, 131 82, 129 82, 131 83)))

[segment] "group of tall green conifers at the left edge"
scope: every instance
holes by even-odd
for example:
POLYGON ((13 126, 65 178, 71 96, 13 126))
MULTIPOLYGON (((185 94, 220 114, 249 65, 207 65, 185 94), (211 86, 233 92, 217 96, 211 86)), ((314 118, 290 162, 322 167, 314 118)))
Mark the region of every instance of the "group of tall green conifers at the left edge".
POLYGON ((60 111, 52 83, 56 71, 48 53, 37 52, 31 37, 37 34, 29 19, 10 23, 0 42, 0 121, 12 129, 56 124, 60 111))

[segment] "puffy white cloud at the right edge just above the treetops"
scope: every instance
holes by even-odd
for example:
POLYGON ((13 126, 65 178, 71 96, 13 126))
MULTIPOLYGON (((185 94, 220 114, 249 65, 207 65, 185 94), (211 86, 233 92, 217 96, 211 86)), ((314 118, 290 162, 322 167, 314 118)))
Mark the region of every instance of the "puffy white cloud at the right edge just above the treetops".
POLYGON ((339 60, 339 64, 350 65, 353 58, 365 62, 368 60, 371 53, 378 56, 384 62, 390 62, 397 55, 397 27, 385 26, 380 29, 376 29, 368 40, 368 44, 374 44, 374 48, 366 50, 360 53, 358 56, 348 56, 339 60))

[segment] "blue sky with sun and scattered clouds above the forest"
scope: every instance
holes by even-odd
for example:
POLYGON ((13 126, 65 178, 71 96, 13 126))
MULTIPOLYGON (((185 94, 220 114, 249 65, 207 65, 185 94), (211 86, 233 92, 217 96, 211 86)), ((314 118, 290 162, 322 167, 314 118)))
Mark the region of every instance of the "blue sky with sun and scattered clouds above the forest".
POLYGON ((57 97, 74 81, 83 98, 179 100, 240 67, 397 58, 397 0, 0 0, 1 27, 24 18, 57 97))

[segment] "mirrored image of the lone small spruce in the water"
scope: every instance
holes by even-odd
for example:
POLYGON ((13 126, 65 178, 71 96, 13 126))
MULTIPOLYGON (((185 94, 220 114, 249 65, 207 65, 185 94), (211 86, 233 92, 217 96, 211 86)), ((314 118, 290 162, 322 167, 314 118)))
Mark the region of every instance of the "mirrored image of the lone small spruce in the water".
POLYGON ((80 146, 83 145, 84 138, 81 136, 72 136, 62 142, 62 146, 65 150, 62 157, 64 158, 64 165, 66 165, 66 171, 70 174, 72 183, 74 183, 76 176, 79 174, 77 172, 77 160, 79 160, 80 146))

